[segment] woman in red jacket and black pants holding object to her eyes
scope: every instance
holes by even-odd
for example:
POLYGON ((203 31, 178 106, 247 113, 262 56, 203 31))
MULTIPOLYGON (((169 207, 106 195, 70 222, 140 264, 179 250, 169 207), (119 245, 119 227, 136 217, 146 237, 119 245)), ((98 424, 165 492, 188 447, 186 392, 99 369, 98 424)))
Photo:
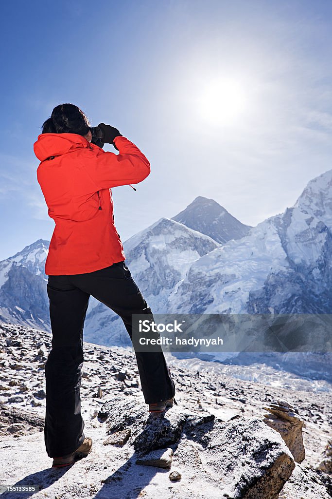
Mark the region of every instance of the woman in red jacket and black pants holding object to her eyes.
MULTIPOLYGON (((141 182, 150 173, 144 154, 119 131, 100 123, 93 139, 84 112, 56 106, 34 143, 37 179, 55 222, 45 262, 52 349, 45 364, 45 447, 53 467, 87 456, 92 439, 83 433, 81 371, 83 326, 92 295, 123 320, 131 338, 131 314, 152 314, 125 265, 113 216, 111 188, 141 182), (113 144, 119 154, 106 152, 113 144)), ((151 315, 149 316, 149 319, 151 315)), ((175 386, 164 354, 136 352, 149 412, 173 405, 175 386)))

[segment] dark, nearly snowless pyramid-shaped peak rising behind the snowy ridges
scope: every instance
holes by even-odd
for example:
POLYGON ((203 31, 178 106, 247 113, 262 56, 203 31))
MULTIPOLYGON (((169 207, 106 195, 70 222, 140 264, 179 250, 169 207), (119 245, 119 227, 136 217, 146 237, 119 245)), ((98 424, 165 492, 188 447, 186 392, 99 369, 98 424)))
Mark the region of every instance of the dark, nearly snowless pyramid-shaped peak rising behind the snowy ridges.
POLYGON ((239 222, 213 199, 198 196, 185 210, 172 218, 195 231, 210 236, 218 243, 246 236, 250 226, 239 222))

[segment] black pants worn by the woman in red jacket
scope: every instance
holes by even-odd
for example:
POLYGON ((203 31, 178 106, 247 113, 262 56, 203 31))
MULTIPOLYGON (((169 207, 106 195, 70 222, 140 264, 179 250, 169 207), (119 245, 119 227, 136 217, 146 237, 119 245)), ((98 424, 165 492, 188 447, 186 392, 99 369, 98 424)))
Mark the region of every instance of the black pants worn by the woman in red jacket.
MULTIPOLYGON (((45 446, 49 457, 74 452, 84 441, 81 416, 83 326, 90 295, 118 314, 131 338, 131 314, 152 314, 124 261, 83 274, 49 275, 52 349, 45 364, 45 446)), ((152 316, 153 317, 153 316, 152 316)), ((111 327, 111 324, 110 324, 111 327)), ((136 352, 147 404, 175 394, 164 354, 136 352)))

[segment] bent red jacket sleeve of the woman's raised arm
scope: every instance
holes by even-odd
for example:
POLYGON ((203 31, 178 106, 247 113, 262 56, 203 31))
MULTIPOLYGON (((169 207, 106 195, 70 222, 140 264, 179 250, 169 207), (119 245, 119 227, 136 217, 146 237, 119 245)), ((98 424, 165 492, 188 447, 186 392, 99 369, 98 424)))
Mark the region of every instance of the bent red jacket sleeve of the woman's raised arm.
POLYGON ((149 161, 135 144, 121 135, 114 143, 119 154, 95 146, 82 164, 97 190, 138 184, 150 173, 149 161))

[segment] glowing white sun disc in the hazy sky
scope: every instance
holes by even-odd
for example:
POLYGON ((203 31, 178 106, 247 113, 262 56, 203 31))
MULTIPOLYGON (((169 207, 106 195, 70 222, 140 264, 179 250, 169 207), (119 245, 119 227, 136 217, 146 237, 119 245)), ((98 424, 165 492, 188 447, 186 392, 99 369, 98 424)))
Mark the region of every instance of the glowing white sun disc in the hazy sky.
POLYGON ((204 85, 198 99, 201 116, 211 124, 234 125, 247 106, 247 96, 240 81, 216 78, 204 85))

